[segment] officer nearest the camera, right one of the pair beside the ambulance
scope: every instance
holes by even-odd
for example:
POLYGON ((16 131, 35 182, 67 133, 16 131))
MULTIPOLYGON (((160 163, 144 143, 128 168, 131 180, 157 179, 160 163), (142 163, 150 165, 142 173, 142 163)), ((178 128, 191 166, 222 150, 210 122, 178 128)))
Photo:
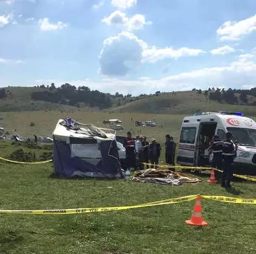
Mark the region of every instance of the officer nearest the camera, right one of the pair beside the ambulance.
POLYGON ((221 187, 230 188, 230 182, 233 177, 234 159, 237 147, 232 142, 233 134, 226 133, 226 140, 223 142, 222 156, 224 160, 224 168, 222 173, 221 187))

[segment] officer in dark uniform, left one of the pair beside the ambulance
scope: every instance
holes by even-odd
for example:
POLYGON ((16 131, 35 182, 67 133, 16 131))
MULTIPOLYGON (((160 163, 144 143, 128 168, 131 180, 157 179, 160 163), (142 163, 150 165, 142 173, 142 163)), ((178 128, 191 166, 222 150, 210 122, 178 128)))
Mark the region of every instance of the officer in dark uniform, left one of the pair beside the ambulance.
MULTIPOLYGON (((223 141, 220 140, 218 135, 213 137, 213 143, 210 147, 210 152, 213 153, 213 167, 222 170, 222 150, 223 150, 223 141)), ((219 178, 219 172, 215 172, 216 178, 219 178)))

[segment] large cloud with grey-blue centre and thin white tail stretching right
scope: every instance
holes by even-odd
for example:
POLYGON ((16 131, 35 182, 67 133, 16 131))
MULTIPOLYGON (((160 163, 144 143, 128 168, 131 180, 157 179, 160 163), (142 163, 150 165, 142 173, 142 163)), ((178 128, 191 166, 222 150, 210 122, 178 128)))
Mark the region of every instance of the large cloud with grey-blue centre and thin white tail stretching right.
POLYGON ((133 33, 123 31, 117 36, 105 39, 99 58, 102 74, 125 76, 141 63, 154 63, 165 58, 198 56, 200 53, 204 51, 186 47, 157 49, 155 46, 148 46, 133 33))

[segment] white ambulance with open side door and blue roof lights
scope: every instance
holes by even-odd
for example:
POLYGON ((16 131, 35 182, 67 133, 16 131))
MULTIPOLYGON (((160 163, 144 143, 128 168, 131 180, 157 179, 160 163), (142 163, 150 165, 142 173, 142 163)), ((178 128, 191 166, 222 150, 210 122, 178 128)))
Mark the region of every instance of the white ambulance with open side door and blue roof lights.
POLYGON ((240 112, 203 112, 184 117, 177 163, 181 166, 210 166, 213 157, 208 153, 210 143, 214 135, 225 140, 227 132, 233 133, 233 142, 238 147, 235 173, 256 175, 256 122, 240 112))

